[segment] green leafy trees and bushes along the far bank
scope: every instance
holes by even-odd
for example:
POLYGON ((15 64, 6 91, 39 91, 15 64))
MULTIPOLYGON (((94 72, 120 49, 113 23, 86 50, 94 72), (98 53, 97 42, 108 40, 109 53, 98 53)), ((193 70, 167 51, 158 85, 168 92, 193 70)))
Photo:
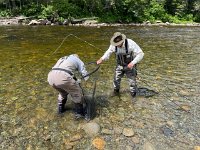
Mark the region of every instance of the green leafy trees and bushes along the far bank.
POLYGON ((101 22, 200 22, 199 0, 0 0, 0 16, 64 20, 99 17, 101 22))

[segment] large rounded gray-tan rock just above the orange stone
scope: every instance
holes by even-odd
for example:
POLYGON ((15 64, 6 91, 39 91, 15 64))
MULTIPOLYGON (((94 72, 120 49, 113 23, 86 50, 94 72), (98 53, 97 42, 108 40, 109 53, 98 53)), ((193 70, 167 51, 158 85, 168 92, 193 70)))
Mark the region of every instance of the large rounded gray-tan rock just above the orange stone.
POLYGON ((96 122, 89 122, 83 126, 83 130, 87 135, 95 136, 98 134, 100 126, 96 122))

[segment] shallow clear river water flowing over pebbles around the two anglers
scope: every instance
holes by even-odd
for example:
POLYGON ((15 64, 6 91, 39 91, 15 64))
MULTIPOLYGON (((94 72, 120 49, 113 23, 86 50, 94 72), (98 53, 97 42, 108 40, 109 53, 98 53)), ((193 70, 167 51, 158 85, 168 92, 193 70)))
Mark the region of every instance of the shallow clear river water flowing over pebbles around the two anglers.
MULTIPOLYGON (((154 90, 153 97, 131 103, 126 78, 121 96, 111 97, 114 55, 88 83, 97 80, 100 125, 96 137, 104 149, 182 150, 200 146, 200 28, 199 27, 0 27, 0 149, 94 149, 96 137, 84 134, 71 109, 57 115, 57 92, 47 74, 62 56, 79 54, 84 62, 96 61, 116 31, 123 32, 143 49, 138 65, 138 87, 154 90), (129 137, 123 131, 132 129, 129 137), (121 130, 121 132, 119 131, 121 130), (71 140, 79 135, 78 140, 71 140), (136 140, 135 140, 136 139, 136 140)), ((72 104, 68 102, 69 108, 72 104)))

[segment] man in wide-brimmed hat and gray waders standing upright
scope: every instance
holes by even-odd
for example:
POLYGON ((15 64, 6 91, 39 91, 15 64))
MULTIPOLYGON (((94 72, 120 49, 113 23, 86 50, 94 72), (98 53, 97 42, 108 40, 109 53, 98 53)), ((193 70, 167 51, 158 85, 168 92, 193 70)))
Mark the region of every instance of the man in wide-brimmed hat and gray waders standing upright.
POLYGON ((110 46, 104 55, 97 60, 101 64, 104 60, 109 59, 112 53, 116 54, 116 69, 114 74, 114 95, 119 94, 121 78, 126 74, 133 102, 136 101, 136 64, 143 59, 144 53, 141 48, 131 39, 120 32, 115 32, 110 40, 110 46))

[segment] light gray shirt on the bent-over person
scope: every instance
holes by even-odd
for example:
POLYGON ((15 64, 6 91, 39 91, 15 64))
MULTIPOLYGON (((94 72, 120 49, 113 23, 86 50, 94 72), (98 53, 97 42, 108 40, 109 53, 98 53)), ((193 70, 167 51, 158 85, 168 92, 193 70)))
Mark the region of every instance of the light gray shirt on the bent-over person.
POLYGON ((87 74, 84 63, 76 55, 73 54, 60 58, 53 68, 66 69, 72 73, 78 71, 82 74, 82 76, 87 74))

